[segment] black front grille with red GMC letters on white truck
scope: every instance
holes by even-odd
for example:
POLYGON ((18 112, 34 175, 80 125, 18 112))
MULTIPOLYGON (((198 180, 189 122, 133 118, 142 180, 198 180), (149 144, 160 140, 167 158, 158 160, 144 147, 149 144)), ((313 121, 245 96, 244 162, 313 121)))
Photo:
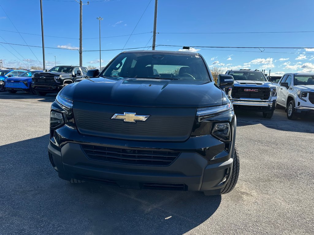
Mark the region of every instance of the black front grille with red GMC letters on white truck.
POLYGON ((231 96, 233 99, 261 99, 261 100, 268 100, 270 97, 270 88, 269 87, 232 87, 231 96), (252 90, 252 91, 251 91, 252 90), (258 91, 253 91, 258 90, 258 91))

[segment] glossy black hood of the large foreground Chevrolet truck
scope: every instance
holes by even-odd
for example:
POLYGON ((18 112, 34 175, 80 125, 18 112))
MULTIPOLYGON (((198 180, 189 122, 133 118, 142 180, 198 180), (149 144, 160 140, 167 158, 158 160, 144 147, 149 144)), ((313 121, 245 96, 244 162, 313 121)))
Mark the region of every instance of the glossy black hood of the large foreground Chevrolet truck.
POLYGON ((65 86, 62 97, 81 102, 142 107, 209 107, 226 102, 214 82, 103 77, 65 86))

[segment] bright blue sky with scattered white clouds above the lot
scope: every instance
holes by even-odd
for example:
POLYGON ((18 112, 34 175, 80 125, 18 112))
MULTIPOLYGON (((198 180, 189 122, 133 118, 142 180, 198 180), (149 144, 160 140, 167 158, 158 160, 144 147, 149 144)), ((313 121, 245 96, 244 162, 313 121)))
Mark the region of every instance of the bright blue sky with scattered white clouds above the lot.
MULTIPOLYGON (((27 68, 27 60, 29 67, 41 66, 40 1, 0 0, 0 6, 3 67, 27 68)), ((265 73, 271 70, 273 76, 285 72, 314 72, 314 49, 310 49, 314 47, 311 9, 314 9, 312 0, 158 0, 156 45, 171 46, 157 46, 156 50, 182 50, 180 46, 191 46, 190 51, 202 54, 209 67, 217 66, 224 71, 265 69, 265 73), (287 31, 294 33, 261 33, 287 31)), ((154 0, 90 0, 89 5, 83 5, 83 66, 99 67, 97 17, 103 18, 101 49, 111 50, 101 52, 102 66, 122 49, 151 50, 154 0)), ((43 0, 43 18, 45 47, 52 47, 45 49, 46 68, 53 67, 55 60, 57 65, 78 65, 78 50, 61 48, 79 47, 79 3, 43 0)))

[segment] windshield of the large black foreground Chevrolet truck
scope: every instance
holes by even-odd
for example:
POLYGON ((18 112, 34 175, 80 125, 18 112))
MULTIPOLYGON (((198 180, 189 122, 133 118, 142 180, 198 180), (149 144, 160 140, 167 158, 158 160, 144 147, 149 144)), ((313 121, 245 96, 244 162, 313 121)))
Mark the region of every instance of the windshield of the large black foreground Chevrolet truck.
POLYGON ((100 76, 111 79, 153 78, 209 82, 205 62, 199 55, 122 53, 100 76))

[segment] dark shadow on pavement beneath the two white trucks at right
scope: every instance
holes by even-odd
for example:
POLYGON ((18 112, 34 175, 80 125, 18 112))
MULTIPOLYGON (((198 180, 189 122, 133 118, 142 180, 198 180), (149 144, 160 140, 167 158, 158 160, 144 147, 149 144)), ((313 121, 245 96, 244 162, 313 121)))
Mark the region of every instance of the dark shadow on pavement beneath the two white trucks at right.
POLYGON ((314 133, 313 116, 302 116, 297 120, 289 120, 284 107, 276 107, 271 119, 263 118, 262 112, 245 112, 236 110, 237 126, 262 124, 271 129, 301 133, 314 133))

